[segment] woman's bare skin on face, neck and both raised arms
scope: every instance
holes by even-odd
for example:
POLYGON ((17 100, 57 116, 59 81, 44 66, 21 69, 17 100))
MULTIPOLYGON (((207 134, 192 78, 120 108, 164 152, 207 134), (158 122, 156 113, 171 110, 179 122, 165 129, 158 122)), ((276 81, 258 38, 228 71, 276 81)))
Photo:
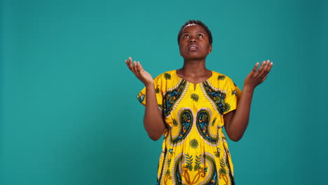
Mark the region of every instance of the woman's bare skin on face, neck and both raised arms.
MULTIPOLYGON (((199 25, 189 25, 182 31, 179 39, 180 55, 184 58, 184 66, 177 70, 177 75, 194 84, 194 88, 210 76, 212 71, 205 67, 205 59, 212 52, 212 45, 208 41, 205 29, 199 25)), ((144 114, 144 127, 153 140, 160 139, 166 126, 163 114, 158 109, 153 77, 145 71, 140 62, 125 60, 128 68, 146 86, 146 109, 144 114)), ((255 64, 247 75, 242 88, 242 95, 237 109, 224 114, 224 128, 228 137, 237 142, 244 135, 250 118, 252 97, 257 85, 264 82, 273 66, 273 62, 266 60, 259 67, 255 64), (259 67, 259 69, 257 69, 259 67)))

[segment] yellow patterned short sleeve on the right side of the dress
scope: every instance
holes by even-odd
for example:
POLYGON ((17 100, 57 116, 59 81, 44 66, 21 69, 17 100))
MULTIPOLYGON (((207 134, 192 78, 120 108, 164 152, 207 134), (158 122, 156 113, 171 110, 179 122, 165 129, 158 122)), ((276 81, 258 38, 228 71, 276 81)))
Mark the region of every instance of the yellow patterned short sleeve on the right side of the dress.
POLYGON ((241 90, 238 88, 231 78, 226 78, 226 99, 224 101, 224 114, 237 109, 238 101, 241 95, 241 90))

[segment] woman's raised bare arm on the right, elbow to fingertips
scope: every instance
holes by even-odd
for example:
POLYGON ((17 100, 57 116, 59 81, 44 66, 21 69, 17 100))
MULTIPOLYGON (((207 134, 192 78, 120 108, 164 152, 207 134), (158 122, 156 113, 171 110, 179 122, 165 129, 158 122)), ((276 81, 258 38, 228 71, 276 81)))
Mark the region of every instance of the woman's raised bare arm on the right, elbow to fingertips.
POLYGON ((273 66, 273 62, 270 62, 269 60, 264 61, 262 62, 261 67, 257 70, 258 66, 259 62, 255 64, 250 74, 245 78, 237 109, 224 115, 224 127, 226 128, 226 133, 228 134, 228 137, 235 142, 242 138, 242 135, 244 135, 247 128, 254 89, 257 85, 264 82, 273 66))

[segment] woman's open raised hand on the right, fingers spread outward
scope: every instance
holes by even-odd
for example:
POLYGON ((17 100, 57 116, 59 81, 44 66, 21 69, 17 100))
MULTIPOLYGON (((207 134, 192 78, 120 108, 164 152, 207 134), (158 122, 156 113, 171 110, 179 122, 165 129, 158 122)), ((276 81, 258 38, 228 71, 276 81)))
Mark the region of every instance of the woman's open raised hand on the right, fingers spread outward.
POLYGON ((266 60, 262 62, 259 69, 257 69, 258 66, 259 62, 255 64, 250 74, 247 75, 244 81, 244 87, 250 87, 254 89, 257 87, 257 85, 264 82, 273 66, 273 62, 270 62, 270 60, 266 60))

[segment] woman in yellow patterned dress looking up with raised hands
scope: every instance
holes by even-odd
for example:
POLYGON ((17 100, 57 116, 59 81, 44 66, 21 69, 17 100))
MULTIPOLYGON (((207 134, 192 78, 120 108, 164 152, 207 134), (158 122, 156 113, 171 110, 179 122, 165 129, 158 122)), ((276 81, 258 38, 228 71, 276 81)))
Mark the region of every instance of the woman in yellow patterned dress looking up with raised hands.
POLYGON ((255 64, 242 92, 231 78, 205 67, 212 51, 212 34, 203 22, 189 20, 178 35, 181 69, 155 79, 140 62, 125 60, 144 83, 137 96, 145 105, 144 127, 149 137, 164 135, 158 165, 158 184, 234 184, 233 164, 222 128, 237 142, 250 117, 254 89, 273 63, 255 64))

